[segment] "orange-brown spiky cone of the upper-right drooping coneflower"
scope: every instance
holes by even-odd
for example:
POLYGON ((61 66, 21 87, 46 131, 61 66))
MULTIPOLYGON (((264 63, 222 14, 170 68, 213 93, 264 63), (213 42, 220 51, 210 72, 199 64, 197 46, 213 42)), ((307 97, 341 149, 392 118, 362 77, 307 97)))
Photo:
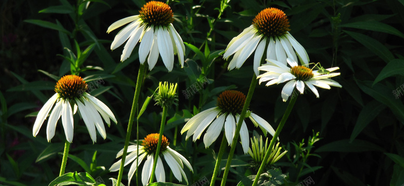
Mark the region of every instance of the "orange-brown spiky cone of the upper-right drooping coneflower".
POLYGON ((276 8, 267 8, 261 11, 252 20, 252 25, 258 30, 259 34, 267 37, 283 36, 290 31, 287 16, 283 11, 276 8))

